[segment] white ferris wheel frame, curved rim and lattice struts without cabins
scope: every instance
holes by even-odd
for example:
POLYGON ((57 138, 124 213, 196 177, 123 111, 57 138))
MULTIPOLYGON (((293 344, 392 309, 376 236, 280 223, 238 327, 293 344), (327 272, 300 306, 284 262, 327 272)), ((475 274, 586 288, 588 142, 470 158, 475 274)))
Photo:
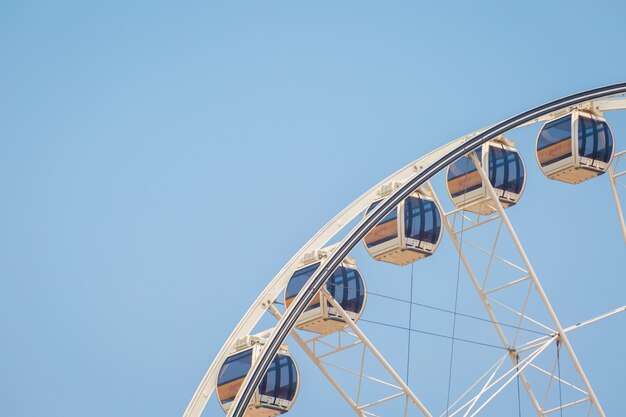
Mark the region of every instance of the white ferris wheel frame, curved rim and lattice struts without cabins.
MULTIPOLYGON (((267 285, 267 287, 261 292, 256 301, 252 304, 252 306, 248 309, 246 314, 243 316, 241 321, 237 324, 231 335, 228 337, 219 353, 213 360, 211 366, 203 377, 198 389, 194 393, 191 401, 189 402, 183 417, 200 417, 202 411, 204 410, 209 398, 213 394, 216 388, 216 379, 217 372, 219 371, 219 367, 226 359, 226 357, 233 352, 233 347, 235 342, 242 337, 245 337, 250 334, 253 330, 254 326, 261 319, 263 314, 266 311, 274 314, 278 318, 277 325, 271 330, 269 337, 266 340, 265 346, 263 348, 263 352, 257 360, 252 363, 250 372, 245 378, 241 388, 235 398, 235 400, 231 403, 230 410, 228 412, 228 417, 242 417, 248 402, 250 401, 251 396, 254 393, 254 390, 261 382, 263 375, 267 372, 267 369, 273 360, 278 348, 283 343, 287 335, 291 334, 296 342, 304 349, 305 353, 313 360, 313 362, 320 368, 322 373, 329 379, 330 383, 337 389, 339 394, 348 402, 350 407, 355 411, 357 415, 360 416, 368 416, 374 415, 369 413, 366 409, 371 406, 371 404, 359 405, 358 401, 351 399, 348 394, 342 389, 342 387, 333 380, 330 376, 324 362, 316 356, 314 349, 311 349, 310 343, 314 344, 319 342, 318 338, 313 338, 310 341, 304 341, 302 338, 298 336, 295 332, 294 326, 298 319, 298 317, 304 311, 304 308, 309 304, 309 302, 313 299, 313 297, 321 290, 324 283, 336 269, 343 259, 348 256, 350 251, 361 241, 361 239, 373 228, 378 222, 386 216, 391 210, 394 210, 399 202, 403 201, 411 192, 416 190, 421 186, 427 186, 434 195, 434 190, 430 187, 428 180, 432 178, 435 174, 443 171, 446 167, 448 167, 451 163, 455 162, 462 156, 470 155, 474 160, 474 163, 478 167, 478 172, 483 180, 483 184, 485 184, 487 188, 487 193, 491 199, 491 202, 494 204, 494 209, 496 210, 496 216, 500 218, 501 222, 505 225, 506 229, 510 233, 513 241, 515 243, 516 248, 519 251, 521 259, 523 261, 524 269, 527 271, 527 277, 525 277, 522 281, 530 281, 531 285, 539 292, 541 299, 547 309, 547 312, 551 318, 551 327, 546 326, 546 328, 552 331, 550 336, 546 336, 543 339, 539 338, 534 344, 529 344, 528 346, 517 347, 518 349, 524 349, 523 351, 530 352, 529 356, 523 361, 519 362, 516 367, 512 368, 507 374, 508 380, 504 381, 504 377, 498 378, 497 381, 493 381, 495 372, 491 374, 491 377, 487 380, 483 389, 480 392, 480 395, 485 394, 488 389, 495 388, 497 391, 492 394, 491 397, 488 398, 487 402, 490 401, 495 395, 497 395, 508 383, 510 383, 513 378, 517 375, 520 376, 520 379, 524 385, 525 390, 527 391, 531 402, 537 411, 539 416, 544 416, 550 414, 556 409, 552 410, 544 410, 539 404, 538 400, 535 398, 532 390, 530 389, 527 381, 524 380, 524 376, 522 371, 527 366, 534 366, 532 364, 532 360, 538 356, 547 346, 549 346, 552 342, 561 343, 569 353, 569 356, 572 359, 575 370, 578 373, 583 387, 577 388, 579 391, 585 393, 586 397, 582 400, 576 401, 576 403, 588 402, 589 403, 589 411, 591 411, 592 406, 597 411, 597 414, 600 417, 605 417, 604 411, 589 383, 587 377, 585 376, 582 367, 578 360, 576 359, 574 350, 569 343, 569 339, 567 337, 567 332, 571 331, 575 328, 579 328, 582 325, 589 324, 600 320, 604 317, 608 317, 609 315, 616 314, 618 312, 624 311, 624 308, 616 309, 612 312, 609 312, 603 316, 598 318, 589 320, 587 322, 581 323, 577 326, 572 326, 569 328, 564 328, 559 322, 556 313, 552 309, 547 295, 543 291, 537 275, 535 274, 528 257, 526 256, 524 249, 517 239, 515 234, 515 230, 511 225, 510 221, 506 213, 504 212, 504 208, 500 204, 493 187, 491 187, 489 180, 487 179, 486 172, 481 168, 480 162, 474 156, 473 151, 478 147, 482 146, 484 143, 487 143, 490 140, 501 137, 505 133, 517 129, 522 126, 528 126, 531 124, 544 122, 547 120, 552 120, 558 118, 564 114, 567 114, 573 110, 586 110, 594 113, 603 113, 606 111, 612 110, 626 110, 626 83, 613 84, 606 87, 596 88, 588 91, 584 91, 581 93, 573 94, 567 97, 564 97, 559 100, 552 101, 550 103, 544 104, 542 106, 536 107, 524 113, 521 113, 517 116, 506 119, 500 123, 491 125, 489 127, 474 131, 467 135, 464 135, 434 151, 431 153, 413 161, 412 163, 406 165, 402 169, 398 170, 394 174, 388 176, 374 187, 370 188, 367 192, 361 195, 359 198, 354 200, 350 205, 348 205, 342 212, 340 212, 337 216, 335 216, 330 222, 328 222, 322 229, 320 229, 317 234, 315 234, 292 258, 287 264, 279 271, 279 273, 272 279, 272 281, 267 285), (620 96, 620 97, 617 97, 620 96), (350 224, 357 216, 361 215, 372 202, 380 199, 381 195, 379 193, 381 187, 385 184, 391 182, 400 182, 402 185, 395 189, 390 195, 388 195, 381 204, 377 205, 374 209, 370 210, 367 215, 363 217, 361 221, 358 222, 356 226, 336 245, 332 252, 328 253, 328 255, 321 260, 320 267, 317 271, 309 278, 307 283, 303 286, 301 291, 299 292, 296 299, 292 302, 289 308, 281 314, 276 307, 273 305, 275 300, 279 297, 281 291, 286 287, 290 277, 295 272, 295 270, 301 267, 301 260, 303 256, 309 252, 320 250, 323 248, 333 237, 335 237, 339 232, 341 232, 346 225, 350 224), (504 381, 504 382, 503 382, 504 381), (503 382, 503 385, 500 387, 496 387, 496 382, 503 382)), ((624 187, 622 183, 620 183, 620 177, 626 176, 626 171, 620 172, 619 169, 623 167, 618 167, 617 164, 624 160, 624 165, 626 165, 626 151, 619 152, 615 154, 613 158, 612 164, 608 171, 608 176, 611 182, 612 191, 615 197, 616 208, 618 211, 618 216, 620 219, 620 225, 622 229, 622 233, 624 235, 624 240, 626 242, 626 225, 624 223, 624 213, 622 211, 619 199, 619 188, 624 187)), ((437 204, 440 206, 436 196, 435 200, 437 204)), ((451 213, 446 213, 443 216, 443 226, 446 228, 452 240, 455 244, 457 251, 459 251, 459 255, 463 260, 463 263, 472 277, 471 266, 469 261, 465 257, 462 247, 459 244, 458 239, 456 238, 456 232, 454 230, 454 225, 450 223, 450 216, 456 216, 459 214, 459 210, 454 210, 451 213)), ((464 214, 461 214, 464 215, 464 214)), ((487 220, 491 221, 493 218, 487 220)), ((484 220, 483 220, 484 221, 484 220)), ((477 222, 476 225, 480 224, 477 222)), ((497 237, 496 237, 497 239, 497 237)), ((493 254, 492 254, 493 256, 493 254)), ((474 277, 472 277, 473 281, 476 281, 474 277)), ((474 283, 477 290, 479 291, 479 295, 481 296, 481 300, 484 303, 487 303, 486 294, 484 294, 484 288, 480 288, 480 285, 477 286, 477 282, 474 283), (483 293, 481 293, 481 291, 483 293)), ((516 285, 518 282, 511 282, 508 285, 516 285)), ((329 297, 329 301, 333 304, 333 307, 342 315, 345 322, 348 324, 351 329, 350 335, 354 336, 357 341, 353 342, 351 346, 346 347, 342 346, 341 342, 341 334, 347 333, 345 331, 339 332, 339 344, 336 347, 336 351, 341 351, 352 346, 362 345, 364 352, 365 349, 369 349, 370 352, 374 354, 374 356, 379 360, 381 364, 387 369, 391 378, 397 385, 394 385, 399 389, 399 393, 397 395, 393 395, 393 398, 397 398, 399 396, 405 396, 407 405, 412 402, 420 411, 427 417, 432 417, 432 414, 426 409, 426 407, 420 402, 418 397, 410 390, 410 388, 404 383, 402 378, 393 370, 393 368, 387 363, 382 354, 376 350, 374 345, 369 341, 367 336, 356 326, 354 321, 343 311, 341 306, 334 302, 332 297, 329 297)), ((487 307, 487 304, 485 304, 487 307)), ((496 330, 500 335, 500 339, 506 349, 509 350, 507 355, 513 360, 513 351, 510 350, 510 346, 506 338, 503 337, 500 330, 498 329, 497 321, 493 316, 493 312, 487 308, 487 312, 496 325, 496 330)), ((520 320, 522 317, 525 317, 523 312, 516 312, 520 314, 520 320)), ((525 317, 527 318, 527 317, 525 317)), ((543 325, 542 325, 543 326, 543 325)), ((504 359, 504 358, 503 358, 504 359)), ((497 371, 497 370, 496 370, 497 371)), ((541 370, 544 373, 547 371, 541 370)), ((487 375, 487 374, 486 374, 487 375)), ((363 378, 363 369, 361 369, 360 378, 363 378)), ((552 377, 554 376, 554 372, 552 372, 552 377)), ((560 380, 559 380, 560 381, 560 380)), ((480 382, 480 380, 479 380, 480 382)), ((465 407, 469 407, 469 410, 466 410, 465 415, 470 415, 472 407, 477 404, 477 401, 480 397, 473 397, 469 403, 465 404, 465 407), (471 407, 470 407, 471 405, 471 407)), ((376 403, 384 402, 392 397, 383 398, 376 403)), ((456 403, 455 403, 456 404, 456 403)), ((452 406, 454 406, 453 404, 452 406)), ((486 403, 481 405, 477 410, 474 411, 472 416, 477 414, 482 407, 484 407, 486 403)), ((573 406, 576 404, 566 404, 562 405, 558 409, 563 409, 569 406, 573 406)), ((460 408, 456 413, 462 411, 463 408, 460 408)), ((455 414, 456 414, 455 413, 455 414)), ((405 413, 406 414, 406 413, 405 413)))

